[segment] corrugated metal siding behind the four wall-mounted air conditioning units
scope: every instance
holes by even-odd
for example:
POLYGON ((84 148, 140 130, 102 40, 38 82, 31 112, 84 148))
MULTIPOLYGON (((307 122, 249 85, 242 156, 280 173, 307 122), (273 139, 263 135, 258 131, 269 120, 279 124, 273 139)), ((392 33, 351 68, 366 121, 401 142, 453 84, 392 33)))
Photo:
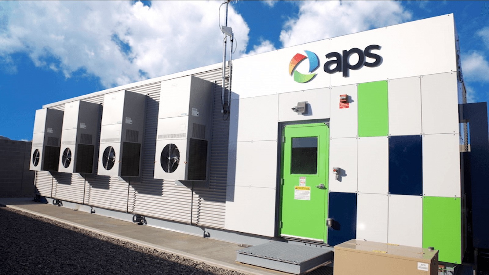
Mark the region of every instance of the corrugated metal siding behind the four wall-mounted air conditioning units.
MULTIPOLYGON (((217 82, 217 85, 214 85, 209 189, 192 191, 188 187, 175 185, 174 181, 153 178, 160 102, 160 82, 156 82, 128 89, 148 96, 140 182, 128 183, 118 180, 117 177, 99 175, 87 179, 79 178, 75 174, 72 177, 69 176, 70 174, 60 175, 55 180, 52 197, 80 203, 83 203, 85 198, 86 204, 101 208, 224 228, 229 120, 223 120, 227 115, 223 116, 221 113, 222 88, 219 84, 222 71, 217 69, 195 76, 210 82, 217 82), (83 184, 80 179, 84 180, 83 184)), ((98 95, 84 99, 84 101, 103 104, 103 99, 103 95, 98 95)), ((51 108, 63 110, 64 105, 51 108)), ((98 148, 96 151, 98 152, 98 148)), ((46 176, 44 172, 39 174, 40 176, 36 177, 36 185, 43 190, 42 195, 51 196, 52 177, 46 176)))

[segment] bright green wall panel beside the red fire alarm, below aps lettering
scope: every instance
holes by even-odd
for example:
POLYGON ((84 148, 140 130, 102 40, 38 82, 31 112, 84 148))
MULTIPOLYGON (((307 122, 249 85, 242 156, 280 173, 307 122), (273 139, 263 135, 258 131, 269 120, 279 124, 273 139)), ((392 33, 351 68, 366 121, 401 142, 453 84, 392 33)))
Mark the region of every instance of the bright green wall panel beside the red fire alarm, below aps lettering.
POLYGON ((358 84, 358 136, 389 134, 387 81, 358 84))

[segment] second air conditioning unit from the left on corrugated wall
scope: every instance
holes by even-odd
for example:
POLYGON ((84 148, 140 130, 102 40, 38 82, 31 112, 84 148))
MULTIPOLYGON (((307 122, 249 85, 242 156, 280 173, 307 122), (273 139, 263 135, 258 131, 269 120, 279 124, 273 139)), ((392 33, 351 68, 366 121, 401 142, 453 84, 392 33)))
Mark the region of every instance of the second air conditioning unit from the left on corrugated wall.
POLYGON ((100 104, 75 101, 65 104, 59 172, 93 173, 100 104))

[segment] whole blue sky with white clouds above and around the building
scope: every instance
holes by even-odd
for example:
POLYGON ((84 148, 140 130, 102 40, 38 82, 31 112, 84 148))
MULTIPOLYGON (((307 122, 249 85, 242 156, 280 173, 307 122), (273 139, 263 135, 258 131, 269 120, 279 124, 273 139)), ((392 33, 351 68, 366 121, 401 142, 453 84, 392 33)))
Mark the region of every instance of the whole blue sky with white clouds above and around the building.
MULTIPOLYGON (((0 1, 0 135, 31 140, 45 104, 221 62, 222 3, 0 1)), ((488 4, 241 0, 229 5, 228 25, 238 58, 453 13, 467 99, 487 102, 488 4)))

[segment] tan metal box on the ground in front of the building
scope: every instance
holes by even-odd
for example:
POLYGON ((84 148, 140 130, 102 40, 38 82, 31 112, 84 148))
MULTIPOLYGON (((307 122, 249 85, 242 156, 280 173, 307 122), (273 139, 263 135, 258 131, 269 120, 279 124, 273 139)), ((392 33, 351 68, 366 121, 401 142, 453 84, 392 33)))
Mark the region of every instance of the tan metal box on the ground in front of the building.
POLYGON ((334 246, 334 275, 438 275, 438 250, 349 240, 334 246))

